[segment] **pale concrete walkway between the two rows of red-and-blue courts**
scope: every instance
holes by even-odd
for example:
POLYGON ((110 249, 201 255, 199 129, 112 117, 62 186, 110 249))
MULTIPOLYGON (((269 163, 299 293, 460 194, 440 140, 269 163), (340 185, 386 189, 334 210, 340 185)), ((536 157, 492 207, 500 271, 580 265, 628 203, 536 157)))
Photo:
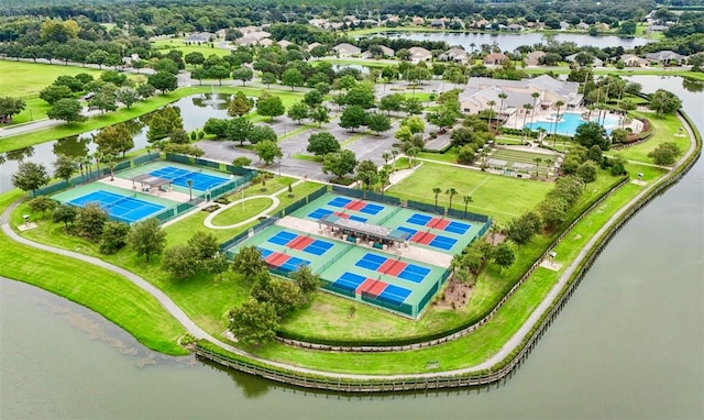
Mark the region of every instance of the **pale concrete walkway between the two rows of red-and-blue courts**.
MULTIPOLYGON (((321 225, 319 223, 314 222, 311 220, 297 219, 290 215, 286 215, 277 220, 276 224, 283 228, 295 229, 301 232, 315 233, 315 234, 333 239, 336 241, 340 241, 340 239, 332 235, 328 229, 324 229, 324 228, 321 229, 320 228, 321 225)), ((369 243, 365 243, 365 242, 360 242, 358 246, 367 247, 370 250, 374 250, 376 252, 383 252, 385 254, 389 254, 394 256, 400 255, 406 258, 416 259, 419 262, 432 264, 443 268, 450 267, 450 263, 452 262, 452 255, 443 254, 441 252, 424 248, 420 246, 415 246, 411 243, 409 243, 407 246, 403 245, 400 247, 392 247, 386 251, 374 248, 369 243)))

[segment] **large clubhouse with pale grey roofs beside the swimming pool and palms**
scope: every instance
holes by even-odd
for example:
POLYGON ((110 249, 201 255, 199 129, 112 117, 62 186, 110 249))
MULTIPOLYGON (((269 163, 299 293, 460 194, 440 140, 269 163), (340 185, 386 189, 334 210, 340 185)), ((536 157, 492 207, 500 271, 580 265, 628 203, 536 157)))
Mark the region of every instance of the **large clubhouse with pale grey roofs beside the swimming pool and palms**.
POLYGON ((579 82, 558 80, 548 75, 521 80, 472 77, 460 93, 460 108, 463 112, 479 113, 490 108, 490 101, 494 101, 493 109, 504 120, 512 115, 524 115, 526 103, 535 103, 536 109, 548 111, 557 110, 556 103, 562 101, 562 110, 575 109, 583 99, 579 87, 579 82), (532 97, 535 92, 538 93, 537 98, 532 97), (499 97, 502 93, 506 95, 505 99, 499 97))

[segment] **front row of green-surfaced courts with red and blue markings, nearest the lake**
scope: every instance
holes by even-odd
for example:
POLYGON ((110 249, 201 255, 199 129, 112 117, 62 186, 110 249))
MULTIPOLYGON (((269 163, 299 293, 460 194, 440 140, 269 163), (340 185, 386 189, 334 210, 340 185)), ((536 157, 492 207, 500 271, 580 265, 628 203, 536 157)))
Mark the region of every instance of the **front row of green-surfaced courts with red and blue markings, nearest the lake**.
POLYGON ((422 312, 448 274, 443 267, 278 225, 227 251, 243 246, 256 246, 275 274, 289 276, 307 265, 328 291, 411 318, 422 312))

